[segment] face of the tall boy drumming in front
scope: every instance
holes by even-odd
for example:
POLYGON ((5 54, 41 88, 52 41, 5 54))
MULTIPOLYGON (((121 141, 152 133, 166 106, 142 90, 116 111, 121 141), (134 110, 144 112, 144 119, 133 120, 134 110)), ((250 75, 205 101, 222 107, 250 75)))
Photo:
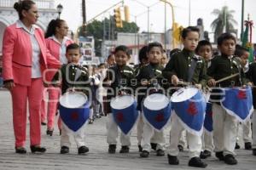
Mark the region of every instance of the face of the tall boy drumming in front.
POLYGON ((189 31, 187 37, 183 39, 184 48, 189 51, 195 51, 199 41, 199 34, 197 31, 189 31))

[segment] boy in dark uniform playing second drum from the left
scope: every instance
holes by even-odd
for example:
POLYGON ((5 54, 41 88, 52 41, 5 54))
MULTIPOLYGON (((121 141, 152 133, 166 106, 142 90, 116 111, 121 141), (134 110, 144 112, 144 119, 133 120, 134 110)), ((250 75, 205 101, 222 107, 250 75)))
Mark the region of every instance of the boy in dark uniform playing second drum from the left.
MULTIPOLYGON (((134 77, 133 69, 127 65, 130 59, 129 48, 123 45, 116 47, 114 49, 114 57, 116 65, 108 69, 107 77, 103 81, 103 86, 108 88, 108 100, 121 94, 131 94, 132 79, 134 77)), ((109 104, 108 102, 108 107, 110 107, 109 104)), ((113 114, 110 113, 108 114, 107 122, 108 153, 110 154, 115 153, 117 137, 118 125, 113 121, 113 114)), ((131 145, 130 133, 127 135, 121 133, 120 142, 122 147, 119 153, 128 153, 131 145)))

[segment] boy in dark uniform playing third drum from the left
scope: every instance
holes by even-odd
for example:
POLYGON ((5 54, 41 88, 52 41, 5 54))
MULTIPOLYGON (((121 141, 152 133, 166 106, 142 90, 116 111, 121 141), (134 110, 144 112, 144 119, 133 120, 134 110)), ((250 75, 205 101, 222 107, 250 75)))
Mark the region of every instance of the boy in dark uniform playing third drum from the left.
MULTIPOLYGON (((141 98, 138 99, 138 105, 142 107, 143 99, 146 96, 147 89, 152 88, 149 90, 149 93, 160 93, 160 91, 154 91, 158 90, 157 88, 163 88, 165 81, 162 77, 162 70, 164 67, 160 65, 160 59, 163 54, 163 48, 162 45, 159 42, 151 42, 148 44, 148 61, 149 64, 145 65, 141 68, 137 75, 137 83, 140 87, 145 87, 145 90, 140 93, 144 93, 143 96, 140 96, 141 98), (157 77, 157 78, 154 78, 157 77), (155 79, 155 82, 153 80, 150 82, 151 79, 155 79)), ((167 82, 167 81, 166 81, 167 82)), ((161 92, 162 93, 162 92, 161 92)), ((142 110, 142 108, 138 108, 139 110, 142 110)), ((165 156, 165 138, 164 138, 164 130, 161 130, 160 132, 154 131, 154 128, 148 124, 148 122, 143 121, 143 135, 142 135, 142 148, 143 151, 140 154, 141 157, 148 157, 149 152, 151 150, 150 145, 150 139, 154 136, 154 143, 156 145, 156 156, 165 156)))

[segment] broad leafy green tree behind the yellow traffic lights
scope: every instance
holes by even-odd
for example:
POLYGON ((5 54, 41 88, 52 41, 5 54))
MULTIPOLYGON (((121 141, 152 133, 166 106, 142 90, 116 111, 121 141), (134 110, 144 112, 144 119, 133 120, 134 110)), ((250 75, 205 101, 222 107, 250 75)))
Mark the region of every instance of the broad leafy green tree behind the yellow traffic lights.
POLYGON ((94 37, 96 55, 100 56, 102 40, 115 40, 117 38, 117 32, 136 33, 138 31, 139 27, 136 25, 136 23, 129 23, 124 20, 123 27, 116 28, 113 23, 113 16, 111 16, 110 19, 105 18, 104 20, 93 20, 87 26, 80 26, 78 35, 79 37, 94 37))

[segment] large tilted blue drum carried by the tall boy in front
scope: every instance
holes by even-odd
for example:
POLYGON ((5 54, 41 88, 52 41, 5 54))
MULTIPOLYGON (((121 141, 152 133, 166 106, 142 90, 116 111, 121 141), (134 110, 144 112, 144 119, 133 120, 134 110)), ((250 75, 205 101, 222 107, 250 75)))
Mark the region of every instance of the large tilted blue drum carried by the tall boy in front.
POLYGON ((180 88, 171 97, 172 107, 183 127, 201 135, 207 102, 198 88, 180 88))

